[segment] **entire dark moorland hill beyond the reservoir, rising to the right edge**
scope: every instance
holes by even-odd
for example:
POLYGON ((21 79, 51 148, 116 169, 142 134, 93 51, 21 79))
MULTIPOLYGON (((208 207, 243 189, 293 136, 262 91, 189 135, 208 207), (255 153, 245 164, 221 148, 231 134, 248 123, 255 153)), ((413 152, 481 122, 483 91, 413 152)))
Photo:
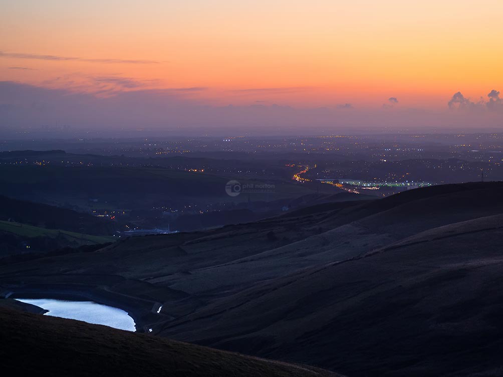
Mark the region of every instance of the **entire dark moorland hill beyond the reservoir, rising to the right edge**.
POLYGON ((0 266, 0 285, 90 290, 160 336, 351 376, 495 376, 501 192, 501 182, 432 186, 134 237, 0 266))

